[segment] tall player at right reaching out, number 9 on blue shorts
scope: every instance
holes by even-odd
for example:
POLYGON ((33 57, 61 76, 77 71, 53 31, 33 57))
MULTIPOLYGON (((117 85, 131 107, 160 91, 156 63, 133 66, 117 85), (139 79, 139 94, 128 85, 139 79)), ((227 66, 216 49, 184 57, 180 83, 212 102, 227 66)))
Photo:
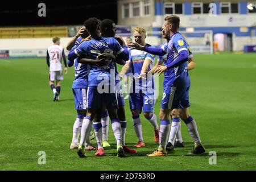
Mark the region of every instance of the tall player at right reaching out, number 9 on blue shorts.
MULTIPOLYGON (((164 22, 164 32, 167 36, 170 36, 170 40, 167 46, 162 48, 148 48, 143 47, 136 43, 131 43, 130 47, 136 49, 142 49, 144 51, 154 53, 155 55, 164 55, 167 53, 167 65, 158 65, 154 73, 167 72, 167 84, 164 88, 162 98, 162 109, 160 109, 160 144, 158 150, 152 152, 148 156, 166 156, 166 145, 168 135, 170 133, 170 114, 173 109, 177 109, 186 90, 190 86, 190 79, 188 75, 188 44, 185 38, 177 31, 179 29, 180 19, 179 16, 171 15, 167 16, 164 22), (167 50, 167 52, 166 52, 167 50)), ((179 113, 176 113, 175 117, 179 117, 179 113)), ((178 127, 178 121, 172 120, 178 127)), ((199 138, 195 120, 188 119, 186 123, 189 133, 195 137, 195 146, 193 147, 193 154, 204 153, 204 147, 201 144, 199 138), (196 134, 197 133, 197 134, 196 134)))

